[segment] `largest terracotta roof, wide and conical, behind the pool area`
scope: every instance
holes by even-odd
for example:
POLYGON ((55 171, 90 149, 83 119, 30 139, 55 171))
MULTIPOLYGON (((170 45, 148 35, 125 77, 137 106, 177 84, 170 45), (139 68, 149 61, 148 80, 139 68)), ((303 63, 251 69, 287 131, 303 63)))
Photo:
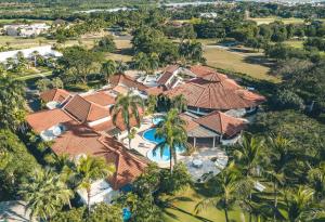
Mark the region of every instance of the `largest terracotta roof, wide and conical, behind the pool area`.
POLYGON ((169 96, 183 94, 187 105, 217 110, 257 106, 265 99, 245 90, 225 75, 211 73, 166 92, 169 96))

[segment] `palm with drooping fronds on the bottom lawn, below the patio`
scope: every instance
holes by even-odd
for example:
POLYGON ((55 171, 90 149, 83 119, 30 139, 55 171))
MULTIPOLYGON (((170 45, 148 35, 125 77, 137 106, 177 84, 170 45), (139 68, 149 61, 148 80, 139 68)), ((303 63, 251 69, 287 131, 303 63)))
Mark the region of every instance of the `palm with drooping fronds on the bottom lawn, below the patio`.
POLYGON ((195 206, 196 213, 212 206, 223 210, 225 221, 230 222, 229 211, 234 207, 240 196, 247 196, 247 181, 243 180, 234 162, 231 162, 219 174, 211 179, 209 183, 212 183, 217 188, 216 196, 199 201, 195 206))

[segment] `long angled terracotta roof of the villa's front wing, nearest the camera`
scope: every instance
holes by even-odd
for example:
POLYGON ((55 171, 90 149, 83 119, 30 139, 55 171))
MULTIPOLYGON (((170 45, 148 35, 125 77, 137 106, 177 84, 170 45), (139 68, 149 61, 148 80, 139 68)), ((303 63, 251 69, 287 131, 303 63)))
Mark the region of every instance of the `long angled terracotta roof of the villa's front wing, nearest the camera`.
POLYGON ((107 164, 114 164, 116 172, 108 181, 114 190, 131 183, 139 177, 147 162, 130 154, 126 147, 113 138, 101 136, 86 126, 76 121, 65 123, 68 129, 55 140, 52 149, 55 154, 80 154, 104 157, 107 164))

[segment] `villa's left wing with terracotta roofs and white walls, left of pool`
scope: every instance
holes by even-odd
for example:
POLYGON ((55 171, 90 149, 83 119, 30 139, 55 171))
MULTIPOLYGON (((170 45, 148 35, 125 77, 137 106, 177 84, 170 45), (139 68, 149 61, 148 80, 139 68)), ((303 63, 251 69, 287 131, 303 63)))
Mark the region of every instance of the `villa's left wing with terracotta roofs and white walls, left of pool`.
MULTIPOLYGON (((114 105, 115 99, 109 92, 72 95, 56 89, 43 92, 40 97, 47 103, 56 102, 57 107, 29 114, 26 121, 44 141, 53 142, 53 153, 68 154, 75 160, 84 155, 104 157, 116 167, 113 177, 92 185, 92 204, 103 200, 109 203, 118 191, 128 186, 147 166, 146 160, 127 151, 109 135, 114 129, 118 133, 126 129, 121 116, 117 118, 117 126, 113 125, 109 107, 114 105)), ((86 201, 84 191, 78 193, 86 201)))

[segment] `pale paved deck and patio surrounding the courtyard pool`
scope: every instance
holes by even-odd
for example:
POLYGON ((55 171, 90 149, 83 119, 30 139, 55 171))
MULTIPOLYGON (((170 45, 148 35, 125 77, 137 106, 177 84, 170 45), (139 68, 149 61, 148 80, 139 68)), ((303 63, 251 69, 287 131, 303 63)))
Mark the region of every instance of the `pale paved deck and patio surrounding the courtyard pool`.
MULTIPOLYGON (((131 148, 138 151, 141 155, 145 157, 147 157, 147 153, 152 151, 156 144, 145 140, 142 136, 142 134, 146 130, 154 127, 153 117, 157 115, 161 115, 161 114, 155 114, 155 115, 144 117, 140 128, 138 129, 138 133, 135 134, 134 139, 131 141, 131 148)), ((127 148, 129 148, 128 139, 123 139, 122 143, 126 145, 127 148)), ((225 153, 221 151, 219 147, 198 148, 191 156, 183 156, 181 154, 178 154, 178 160, 183 161, 187 166, 188 172, 192 174, 194 181, 200 179, 200 177, 205 173, 210 172, 211 174, 217 174, 220 172, 220 168, 216 167, 214 162, 211 160, 212 158, 226 158, 226 156, 225 153), (203 166, 199 168, 194 167, 193 166, 194 159, 202 160, 203 166)), ((157 165, 160 168, 169 168, 169 160, 159 161, 157 162, 157 165)))

